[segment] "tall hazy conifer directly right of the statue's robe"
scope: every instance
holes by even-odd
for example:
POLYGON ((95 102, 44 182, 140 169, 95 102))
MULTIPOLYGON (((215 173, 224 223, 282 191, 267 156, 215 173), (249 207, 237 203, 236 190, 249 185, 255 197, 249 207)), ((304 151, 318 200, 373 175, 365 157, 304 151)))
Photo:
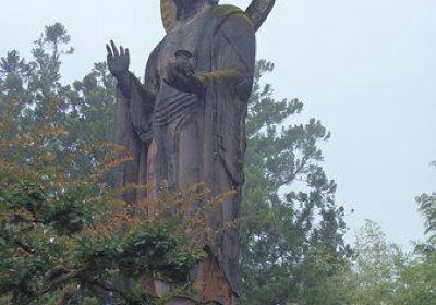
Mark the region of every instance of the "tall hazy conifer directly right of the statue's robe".
POLYGON ((249 106, 242 210, 245 304, 327 304, 327 282, 343 264, 343 208, 335 204, 319 142, 330 134, 315 119, 290 124, 296 99, 275 100, 262 85, 274 65, 259 61, 249 106))

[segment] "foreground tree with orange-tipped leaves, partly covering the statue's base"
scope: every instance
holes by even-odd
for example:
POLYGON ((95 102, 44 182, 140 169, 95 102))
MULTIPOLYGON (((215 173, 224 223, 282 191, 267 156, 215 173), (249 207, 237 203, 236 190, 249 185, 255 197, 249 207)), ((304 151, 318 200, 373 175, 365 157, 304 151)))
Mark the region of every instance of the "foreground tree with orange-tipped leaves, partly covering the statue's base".
POLYGON ((117 199, 120 192, 145 186, 117 190, 102 179, 107 169, 129 160, 129 155, 120 159, 122 148, 68 146, 65 132, 51 124, 57 103, 37 125, 11 135, 12 107, 0 120, 0 304, 77 304, 74 296, 109 291, 117 304, 153 305, 161 303, 141 288, 143 277, 189 286, 190 269, 208 237, 207 208, 220 197, 206 200, 202 185, 177 194, 164 185, 160 212, 146 218, 148 202, 117 199), (87 158, 93 161, 86 180, 73 174, 82 170, 75 166, 81 155, 94 156, 87 158), (198 202, 205 209, 187 215, 184 207, 198 202), (171 219, 165 217, 169 212, 171 219), (134 284, 123 285, 121 277, 134 284))

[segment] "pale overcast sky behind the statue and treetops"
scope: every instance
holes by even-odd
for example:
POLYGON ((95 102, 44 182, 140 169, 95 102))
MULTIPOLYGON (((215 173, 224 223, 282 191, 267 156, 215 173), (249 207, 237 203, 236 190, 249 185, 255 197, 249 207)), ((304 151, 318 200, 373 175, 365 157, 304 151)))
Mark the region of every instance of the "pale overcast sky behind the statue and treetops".
MULTIPOLYGON (((249 0, 223 1, 247 7, 249 0)), ((46 24, 61 22, 76 52, 65 81, 106 58, 114 39, 131 49, 142 74, 164 36, 158 0, 0 0, 0 56, 25 57, 46 24)), ((275 62, 267 77, 277 98, 298 97, 303 118, 332 132, 325 167, 339 185, 338 203, 368 218, 388 239, 422 240, 414 196, 436 191, 436 1, 277 0, 259 30, 257 58, 275 62)))

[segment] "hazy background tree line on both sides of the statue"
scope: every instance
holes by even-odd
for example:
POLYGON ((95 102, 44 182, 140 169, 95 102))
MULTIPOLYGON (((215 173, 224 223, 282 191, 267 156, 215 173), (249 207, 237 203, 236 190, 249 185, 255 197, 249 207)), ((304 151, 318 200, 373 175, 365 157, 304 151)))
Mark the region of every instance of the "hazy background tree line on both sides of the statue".
MULTIPOLYGON (((11 135, 37 126, 56 101, 50 124, 66 131, 65 145, 114 141, 114 81, 101 62, 83 80, 62 84, 62 57, 73 52, 66 29, 55 24, 35 41, 32 59, 16 51, 1 58, 0 109, 16 102, 11 135)), ((428 240, 412 253, 386 241, 372 221, 347 245, 346 211, 336 203, 336 184, 323 169, 319 149, 330 133, 316 119, 293 124, 303 103, 275 99, 271 86, 262 82, 274 64, 261 60, 256 68, 241 218, 243 304, 436 304, 436 195, 417 198, 428 240)), ((56 142, 52 151, 64 158, 56 142)), ((77 169, 72 175, 85 178, 92 158, 84 155, 70 164, 77 169)), ((106 179, 110 184, 110 171, 106 179)), ((51 293, 61 291, 62 285, 51 293)), ((88 293, 71 294, 65 304, 96 303, 88 293)))

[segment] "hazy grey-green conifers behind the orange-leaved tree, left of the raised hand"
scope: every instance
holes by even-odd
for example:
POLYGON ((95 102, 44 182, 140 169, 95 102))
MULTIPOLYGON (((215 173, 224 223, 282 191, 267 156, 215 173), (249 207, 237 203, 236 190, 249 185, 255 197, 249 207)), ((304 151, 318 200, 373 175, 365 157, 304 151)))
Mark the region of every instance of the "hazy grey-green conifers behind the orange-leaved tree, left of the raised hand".
MULTIPOLYGON (((65 146, 113 142, 114 81, 105 63, 96 63, 82 81, 62 85, 62 57, 73 53, 69 42, 65 28, 56 23, 35 41, 32 61, 22 59, 16 51, 0 59, 0 110, 11 102, 15 105, 10 133, 16 134, 20 126, 35 127, 50 103, 56 102, 50 124, 68 131, 65 146)), ((63 150, 57 148, 55 145, 51 149, 62 159, 63 150)), ((77 168, 84 169, 90 160, 85 155, 81 157, 77 168)))

